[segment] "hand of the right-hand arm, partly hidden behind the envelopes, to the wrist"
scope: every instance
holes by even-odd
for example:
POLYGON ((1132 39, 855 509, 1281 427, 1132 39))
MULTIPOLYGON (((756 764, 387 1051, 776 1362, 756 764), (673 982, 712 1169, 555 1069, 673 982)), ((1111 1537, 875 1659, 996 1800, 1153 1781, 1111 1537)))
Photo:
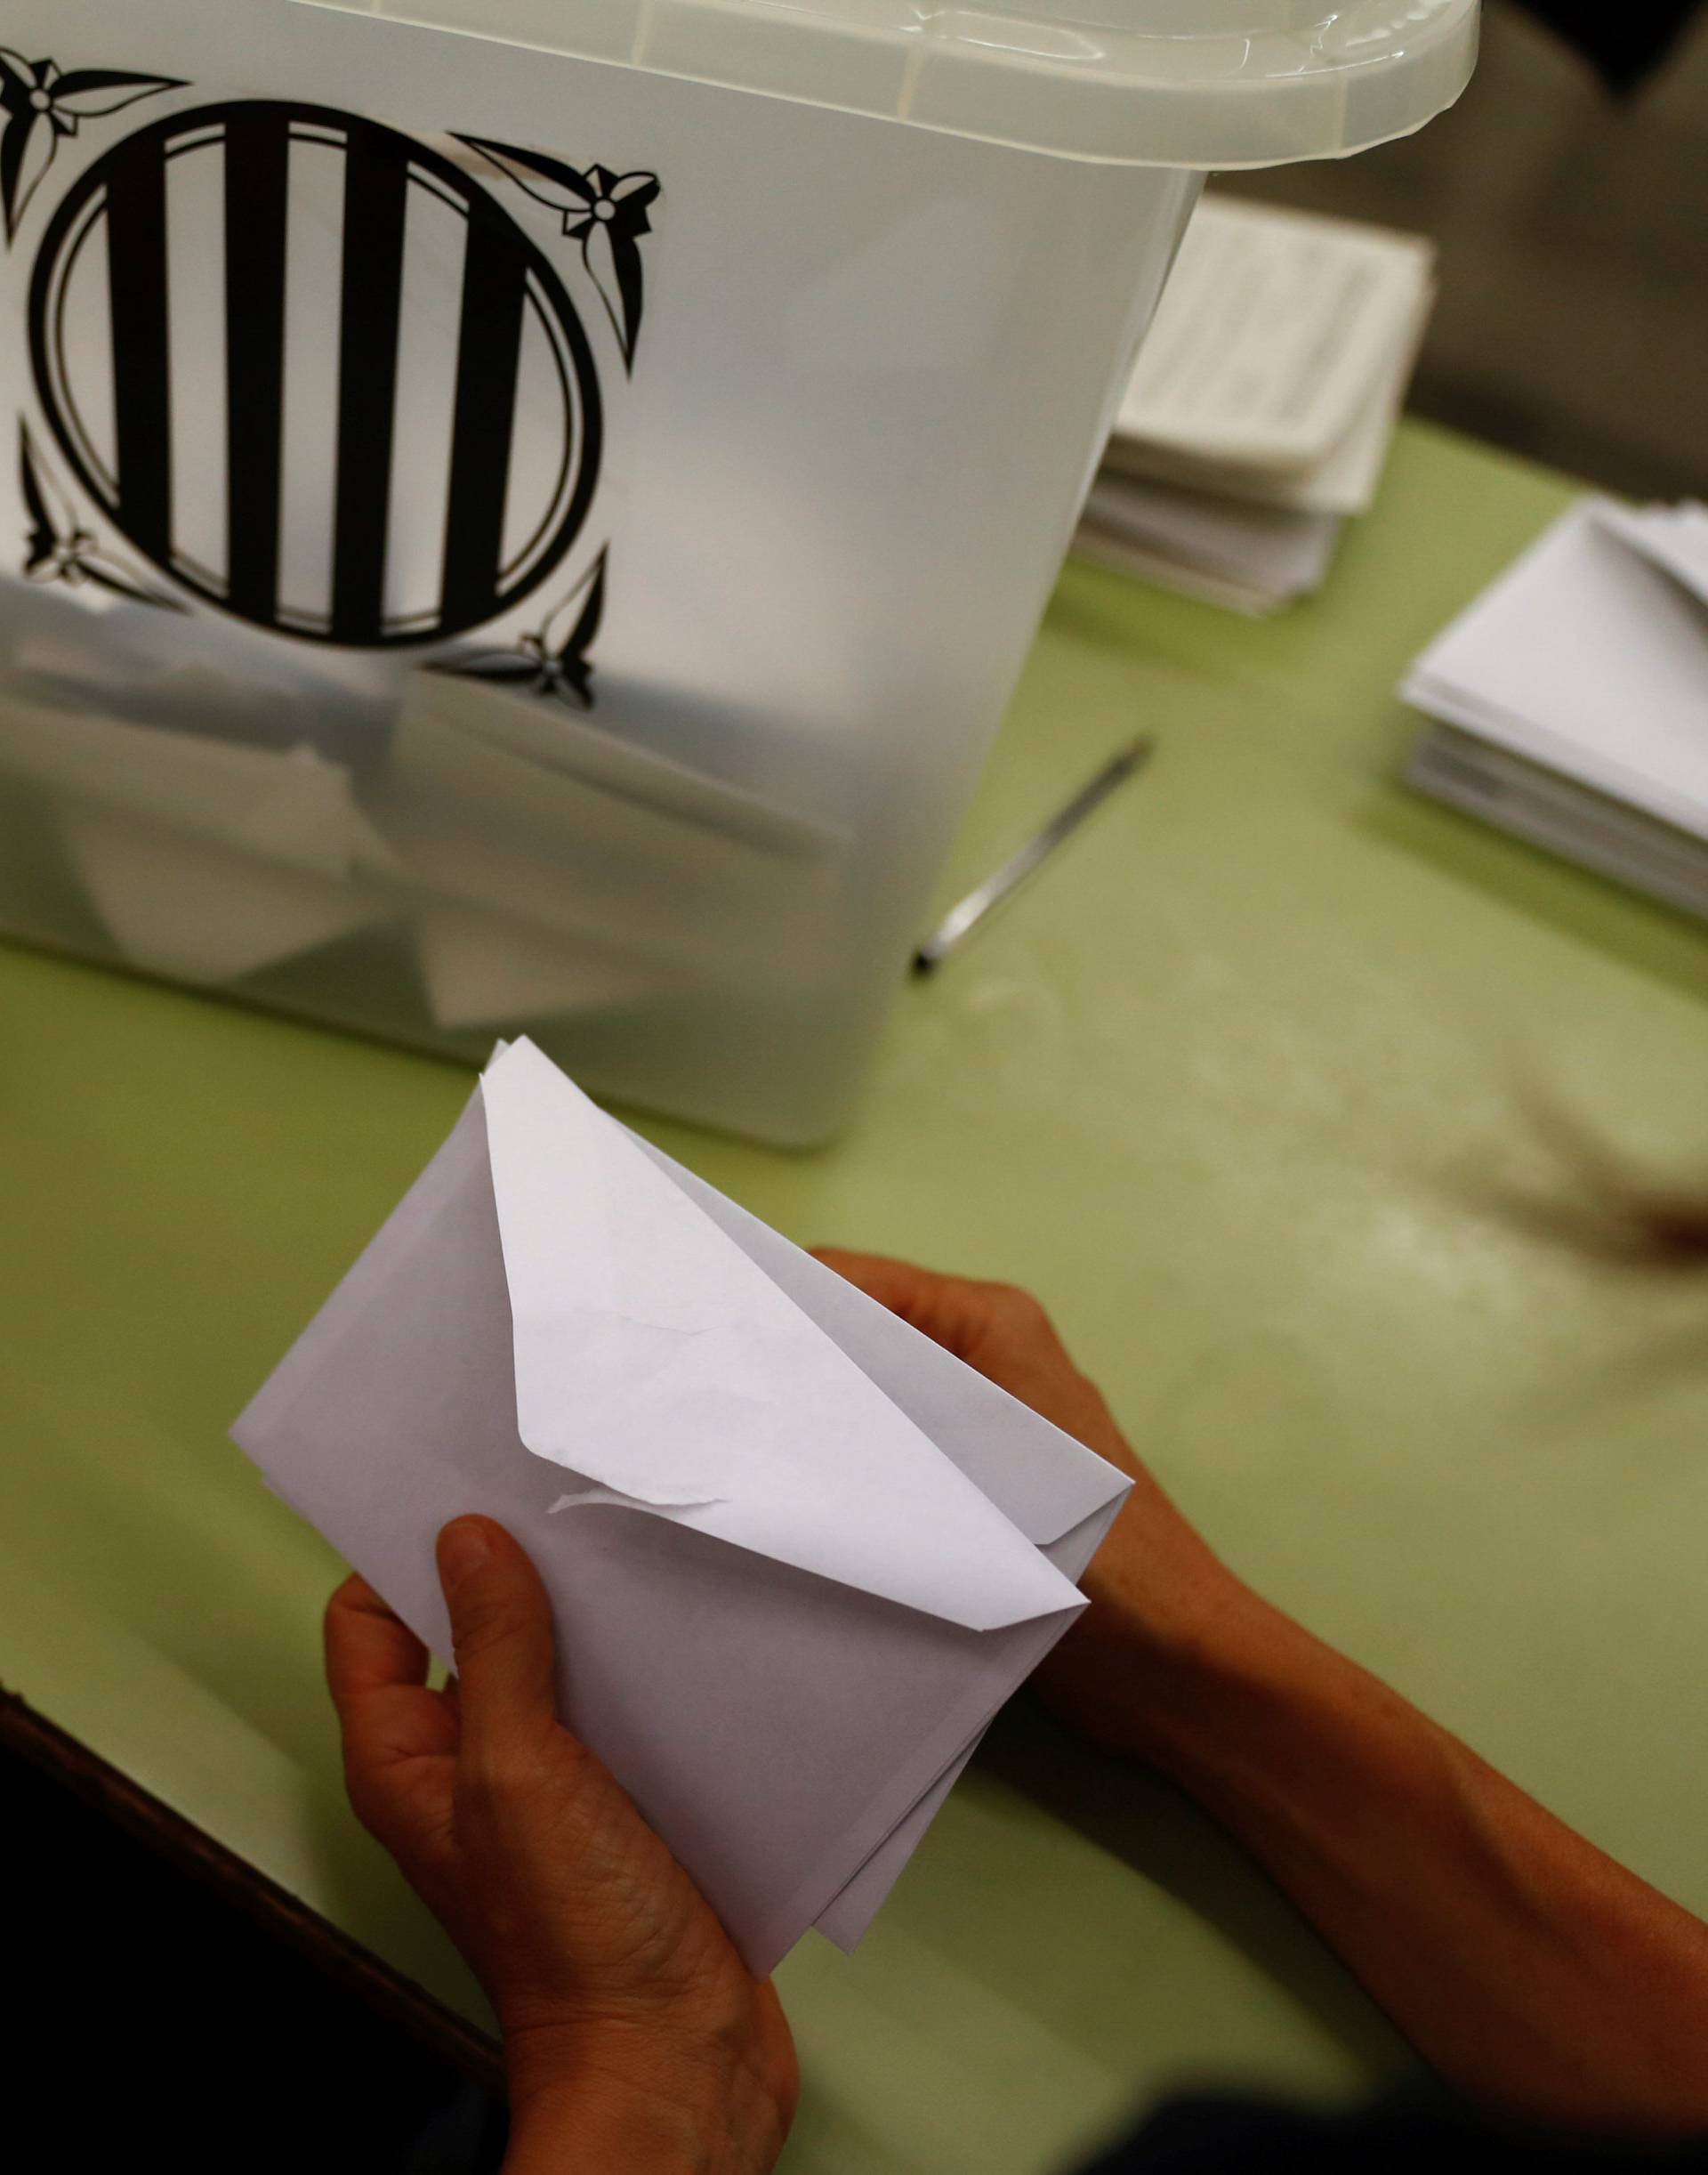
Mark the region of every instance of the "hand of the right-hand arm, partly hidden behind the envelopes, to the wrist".
POLYGON ((1156 1723, 1180 1664, 1234 1623, 1249 1625, 1263 1603, 1217 1562, 1132 1455, 1102 1392, 1073 1366, 1030 1292, 834 1246, 817 1248, 817 1259, 1132 1479, 1121 1516, 1080 1581, 1091 1607, 1034 1681, 1084 1736, 1110 1751, 1156 1757, 1156 1723))

